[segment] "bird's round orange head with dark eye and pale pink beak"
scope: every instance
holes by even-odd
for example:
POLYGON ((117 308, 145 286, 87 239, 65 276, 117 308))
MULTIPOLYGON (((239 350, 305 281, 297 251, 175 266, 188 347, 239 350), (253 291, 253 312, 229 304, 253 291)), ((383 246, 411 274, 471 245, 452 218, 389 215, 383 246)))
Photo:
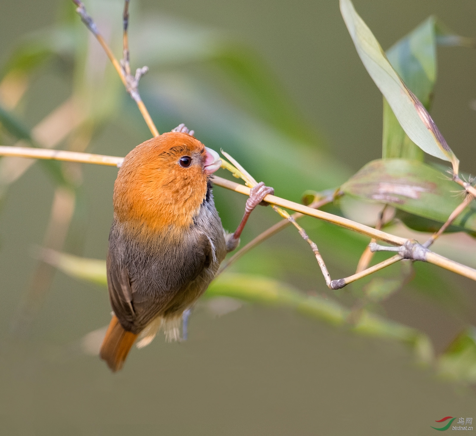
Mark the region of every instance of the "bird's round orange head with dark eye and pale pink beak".
POLYGON ((207 194, 218 153, 187 133, 168 132, 138 145, 124 158, 114 184, 114 217, 130 231, 188 228, 207 194))

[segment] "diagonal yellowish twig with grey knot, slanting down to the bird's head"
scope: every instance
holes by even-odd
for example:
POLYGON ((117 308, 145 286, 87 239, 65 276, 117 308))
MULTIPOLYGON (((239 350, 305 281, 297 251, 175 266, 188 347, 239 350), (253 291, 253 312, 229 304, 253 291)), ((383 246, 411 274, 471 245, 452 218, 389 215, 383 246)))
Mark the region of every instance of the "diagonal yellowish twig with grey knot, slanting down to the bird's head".
MULTIPOLYGON (((102 35, 99 33, 99 29, 96 26, 96 23, 94 20, 91 18, 91 16, 86 12, 86 8, 84 7, 84 4, 80 0, 72 0, 73 3, 77 6, 76 12, 78 12, 79 16, 81 17, 81 21, 86 25, 86 27, 92 32, 92 34, 96 37, 98 40, 99 44, 101 47, 104 49, 106 52, 106 55, 108 56, 109 60, 112 62, 112 65, 116 69, 116 71, 119 74, 120 79, 122 80, 122 83, 126 87, 127 92, 129 92, 130 96, 132 99, 137 104, 137 107, 140 110, 140 113, 142 114, 142 117, 144 118, 147 127, 149 127, 150 132, 152 133, 153 136, 159 136, 159 130, 155 127, 154 121, 152 121, 152 118, 150 117, 149 111, 147 110, 144 102, 140 98, 139 91, 137 89, 139 85, 139 79, 149 70, 148 67, 142 67, 138 68, 136 70, 135 76, 132 76, 130 74, 130 69, 129 69, 129 74, 126 74, 124 71, 123 67, 119 63, 119 61, 116 59, 114 56, 114 53, 112 50, 109 48, 107 42, 104 40, 102 35)), ((126 1, 126 3, 129 3, 126 1)), ((129 15, 129 14, 128 14, 129 15)), ((126 32, 127 34, 127 32, 126 32)), ((126 37, 127 38, 127 37, 126 37)), ((129 50, 128 50, 129 52, 129 50)))

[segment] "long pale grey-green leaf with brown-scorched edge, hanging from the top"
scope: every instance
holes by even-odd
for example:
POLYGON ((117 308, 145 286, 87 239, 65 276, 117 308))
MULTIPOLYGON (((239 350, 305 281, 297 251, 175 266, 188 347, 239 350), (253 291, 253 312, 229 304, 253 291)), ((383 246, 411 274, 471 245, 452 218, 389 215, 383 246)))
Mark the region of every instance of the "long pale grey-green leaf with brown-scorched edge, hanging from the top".
POLYGON ((357 14, 352 2, 340 0, 340 10, 360 59, 387 99, 405 133, 426 153, 450 161, 453 171, 457 174, 459 160, 425 107, 392 68, 377 39, 357 14))

